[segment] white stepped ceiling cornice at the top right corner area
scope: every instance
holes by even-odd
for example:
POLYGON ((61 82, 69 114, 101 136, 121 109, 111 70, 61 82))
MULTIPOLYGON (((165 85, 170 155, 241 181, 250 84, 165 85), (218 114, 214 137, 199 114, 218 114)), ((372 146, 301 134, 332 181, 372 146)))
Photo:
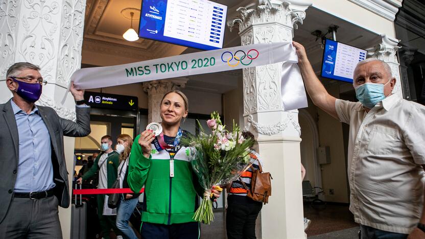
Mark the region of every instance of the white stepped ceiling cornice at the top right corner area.
POLYGON ((394 21, 398 8, 402 7, 402 0, 348 0, 367 9, 387 20, 394 21))

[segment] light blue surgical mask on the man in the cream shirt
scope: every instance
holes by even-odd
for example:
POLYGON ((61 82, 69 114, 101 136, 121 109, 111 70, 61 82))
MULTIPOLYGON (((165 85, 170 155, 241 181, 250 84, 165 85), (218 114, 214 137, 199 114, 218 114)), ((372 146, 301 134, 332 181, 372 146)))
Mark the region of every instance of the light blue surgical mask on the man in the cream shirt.
POLYGON ((379 83, 364 83, 355 88, 356 97, 366 108, 373 108, 378 102, 385 99, 384 86, 387 85, 391 79, 385 84, 379 83))

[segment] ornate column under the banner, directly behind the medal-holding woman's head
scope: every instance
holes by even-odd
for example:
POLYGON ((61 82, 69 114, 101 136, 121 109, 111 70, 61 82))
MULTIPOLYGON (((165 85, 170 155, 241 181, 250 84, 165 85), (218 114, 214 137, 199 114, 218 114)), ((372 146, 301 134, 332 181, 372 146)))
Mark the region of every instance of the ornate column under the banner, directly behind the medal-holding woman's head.
POLYGON ((148 92, 148 123, 161 122, 159 105, 162 97, 170 90, 184 88, 187 78, 173 78, 171 80, 143 82, 143 89, 148 92))

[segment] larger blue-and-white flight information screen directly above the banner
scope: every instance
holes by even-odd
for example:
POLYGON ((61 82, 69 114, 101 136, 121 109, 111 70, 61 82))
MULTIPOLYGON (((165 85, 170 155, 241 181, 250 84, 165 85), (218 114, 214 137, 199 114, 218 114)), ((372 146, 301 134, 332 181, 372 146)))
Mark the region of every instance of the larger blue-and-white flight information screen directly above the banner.
POLYGON ((227 6, 207 0, 143 0, 139 37, 202 50, 223 47, 227 6))

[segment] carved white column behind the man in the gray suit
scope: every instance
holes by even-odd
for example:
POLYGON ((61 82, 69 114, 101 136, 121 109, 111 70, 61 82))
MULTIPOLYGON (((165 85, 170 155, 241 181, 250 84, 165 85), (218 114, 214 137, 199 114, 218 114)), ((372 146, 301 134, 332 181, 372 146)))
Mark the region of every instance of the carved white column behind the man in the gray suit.
MULTIPOLYGON (((0 2, 0 80, 15 62, 39 65, 48 81, 38 105, 53 107, 57 113, 75 119, 75 103, 67 94, 70 75, 81 66, 81 45, 86 0, 4 0, 0 2)), ((12 94, 4 81, 0 84, 0 102, 12 94)), ((69 181, 74 172, 74 138, 64 138, 69 181)), ((60 208, 64 238, 70 235, 70 208, 60 208)))

